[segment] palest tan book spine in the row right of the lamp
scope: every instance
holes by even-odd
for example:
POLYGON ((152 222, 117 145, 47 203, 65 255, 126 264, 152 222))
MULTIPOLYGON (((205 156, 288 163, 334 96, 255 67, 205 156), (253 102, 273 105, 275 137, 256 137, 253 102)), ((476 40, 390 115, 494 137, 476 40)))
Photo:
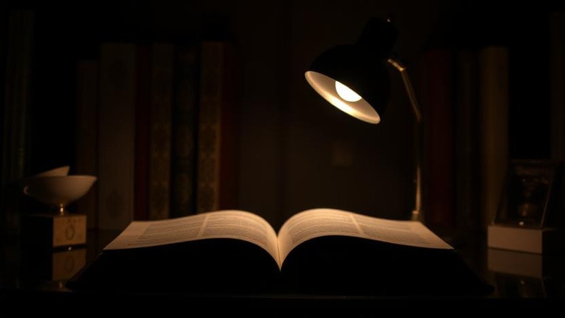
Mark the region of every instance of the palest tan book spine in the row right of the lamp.
POLYGON ((509 56, 507 47, 480 51, 480 202, 482 229, 498 210, 509 163, 509 56))

